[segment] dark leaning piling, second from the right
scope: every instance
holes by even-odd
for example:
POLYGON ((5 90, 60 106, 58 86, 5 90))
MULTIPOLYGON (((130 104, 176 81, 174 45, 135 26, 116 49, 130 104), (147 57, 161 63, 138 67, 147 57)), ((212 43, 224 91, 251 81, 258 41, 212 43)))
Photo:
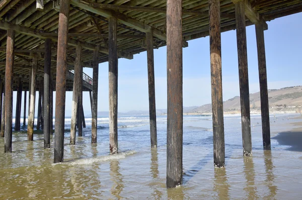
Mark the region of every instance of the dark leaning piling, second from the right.
POLYGON ((248 76, 247 36, 245 26, 245 11, 242 1, 235 3, 236 33, 239 66, 239 86, 242 121, 243 155, 252 156, 250 94, 248 76))

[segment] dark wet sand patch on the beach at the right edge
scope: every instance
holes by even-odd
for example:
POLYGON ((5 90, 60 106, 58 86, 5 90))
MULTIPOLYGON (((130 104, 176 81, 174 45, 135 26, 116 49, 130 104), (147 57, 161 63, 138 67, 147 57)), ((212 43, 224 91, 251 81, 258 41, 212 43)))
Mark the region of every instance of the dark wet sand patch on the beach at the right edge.
POLYGON ((301 119, 301 122, 291 123, 293 126, 298 126, 297 128, 278 133, 278 135, 272 137, 272 139, 277 140, 280 145, 290 146, 287 150, 302 152, 302 117, 296 117, 294 119, 301 119))

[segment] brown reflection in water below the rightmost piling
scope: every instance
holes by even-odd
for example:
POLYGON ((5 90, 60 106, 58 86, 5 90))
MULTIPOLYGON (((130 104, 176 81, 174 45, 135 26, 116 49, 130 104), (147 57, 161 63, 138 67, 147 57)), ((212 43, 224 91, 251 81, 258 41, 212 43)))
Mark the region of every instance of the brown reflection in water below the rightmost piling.
POLYGON ((264 199, 274 199, 278 188, 276 185, 274 185, 274 165, 271 151, 264 150, 264 163, 266 174, 265 184, 269 190, 268 195, 266 195, 264 199))

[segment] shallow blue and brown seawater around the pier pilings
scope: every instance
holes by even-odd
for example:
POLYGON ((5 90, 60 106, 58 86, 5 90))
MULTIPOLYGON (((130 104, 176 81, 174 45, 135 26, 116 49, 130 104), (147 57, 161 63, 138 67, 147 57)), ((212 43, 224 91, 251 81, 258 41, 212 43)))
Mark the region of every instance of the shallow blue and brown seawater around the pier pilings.
MULTIPOLYGON (((296 115, 297 116, 297 115, 296 115)), ((272 137, 290 130, 295 116, 271 118, 272 137)), ((225 169, 214 169, 210 116, 184 116, 183 186, 166 188, 166 116, 158 116, 158 148, 150 149, 147 117, 118 120, 119 154, 109 155, 108 118, 98 119, 98 143, 91 145, 91 119, 84 137, 70 146, 65 123, 64 163, 52 164, 43 135, 33 142, 13 134, 13 152, 0 151, 1 199, 299 199, 302 152, 272 140, 262 150, 261 116, 251 116, 253 157, 242 156, 240 116, 225 116, 225 169)), ((22 122, 21 122, 22 124, 22 122)), ((26 129, 26 127, 24 127, 26 129)), ((53 136, 51 136, 53 141, 53 136)), ((0 138, 0 147, 4 139, 0 138)))

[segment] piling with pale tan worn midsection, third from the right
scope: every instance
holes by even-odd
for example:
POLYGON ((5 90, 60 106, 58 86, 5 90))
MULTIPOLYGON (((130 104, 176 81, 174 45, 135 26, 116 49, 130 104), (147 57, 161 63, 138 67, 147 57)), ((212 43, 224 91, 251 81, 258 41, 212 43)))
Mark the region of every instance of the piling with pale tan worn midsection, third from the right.
POLYGON ((214 166, 224 167, 224 125, 221 72, 220 1, 209 0, 209 35, 214 166))

